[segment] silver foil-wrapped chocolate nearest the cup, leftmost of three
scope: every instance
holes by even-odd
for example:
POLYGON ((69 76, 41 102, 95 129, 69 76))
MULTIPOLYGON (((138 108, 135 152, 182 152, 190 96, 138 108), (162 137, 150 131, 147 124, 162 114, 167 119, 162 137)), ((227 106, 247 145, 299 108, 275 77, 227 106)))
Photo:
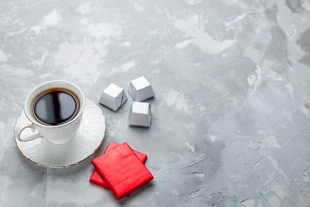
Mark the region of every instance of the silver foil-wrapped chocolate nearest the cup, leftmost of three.
POLYGON ((124 89, 111 83, 102 93, 99 100, 100 104, 103 104, 112 110, 116 111, 127 100, 124 89))

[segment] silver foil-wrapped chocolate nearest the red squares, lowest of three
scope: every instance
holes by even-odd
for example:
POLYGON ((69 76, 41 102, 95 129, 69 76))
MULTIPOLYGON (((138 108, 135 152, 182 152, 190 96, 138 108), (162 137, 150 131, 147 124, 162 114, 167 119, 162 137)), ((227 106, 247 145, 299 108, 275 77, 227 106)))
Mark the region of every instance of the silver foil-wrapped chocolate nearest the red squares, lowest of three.
POLYGON ((128 123, 136 126, 150 126, 151 105, 149 103, 134 102, 129 112, 128 123))

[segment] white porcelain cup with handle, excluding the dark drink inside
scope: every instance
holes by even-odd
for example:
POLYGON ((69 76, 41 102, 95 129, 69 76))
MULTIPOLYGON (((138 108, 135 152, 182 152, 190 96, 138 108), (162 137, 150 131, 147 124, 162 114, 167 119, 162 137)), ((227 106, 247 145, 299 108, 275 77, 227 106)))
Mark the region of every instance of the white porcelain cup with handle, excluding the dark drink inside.
POLYGON ((30 140, 34 140, 40 137, 43 137, 44 139, 47 139, 53 144, 65 144, 70 142, 78 128, 80 127, 80 124, 82 122, 82 115, 83 110, 85 106, 85 97, 82 92, 82 90, 77 87, 75 84, 70 83, 68 81, 62 81, 62 80, 54 80, 54 81, 48 81, 45 83, 42 83, 35 87, 27 96, 24 104, 24 111, 27 116, 27 118, 31 121, 31 124, 23 123, 21 125, 16 126, 15 128, 15 137, 19 139, 22 142, 27 142, 30 140), (76 116, 71 119, 70 121, 56 126, 49 126, 44 125, 40 122, 38 122, 35 117, 32 114, 32 103, 36 99, 38 95, 40 95, 42 92, 52 89, 52 88, 63 88, 67 89, 71 92, 73 92, 79 102, 80 102, 80 108, 76 116), (32 132, 34 132, 33 135, 28 137, 20 137, 20 133, 25 129, 30 127, 32 129, 32 132))

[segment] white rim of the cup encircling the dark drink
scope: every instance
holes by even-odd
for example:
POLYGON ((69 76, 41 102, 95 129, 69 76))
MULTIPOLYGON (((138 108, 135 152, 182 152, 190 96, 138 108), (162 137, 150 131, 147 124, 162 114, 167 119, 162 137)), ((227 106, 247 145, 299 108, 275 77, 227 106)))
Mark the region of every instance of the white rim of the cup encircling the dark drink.
MULTIPOLYGON (((51 87, 51 88, 54 88, 54 87, 51 87)), ((65 87, 63 87, 63 88, 66 89, 65 87)), ((67 89, 67 90, 68 90, 68 89, 67 89)), ((40 92, 39 92, 39 93, 40 93, 40 92)), ((39 95, 39 93, 38 93, 38 95, 39 95)), ((33 89, 29 92, 29 94, 28 94, 27 97, 26 97, 25 103, 24 103, 24 111, 25 111, 25 115, 27 116, 27 118, 28 118, 33 124, 35 124, 35 125, 37 125, 37 126, 40 126, 40 127, 43 127, 43 128, 59 128, 59 127, 62 127, 62 126, 65 126, 65 125, 68 125, 68 124, 74 122, 76 119, 78 119, 78 118, 82 115, 83 110, 84 110, 84 107, 85 107, 85 96, 84 96, 84 94, 83 94, 83 91, 82 91, 77 85, 75 85, 74 83, 71 83, 71 82, 69 82, 69 81, 63 81, 63 80, 52 80, 52 81, 47 81, 47 82, 44 82, 44 83, 39 84, 38 86, 36 86, 35 88, 33 88, 33 89), (76 95, 78 96, 78 99, 79 99, 79 101, 80 101, 80 108, 79 108, 78 113, 76 114, 76 116, 75 116, 72 120, 70 120, 70 121, 68 121, 68 122, 66 122, 66 123, 64 123, 64 124, 61 124, 61 125, 49 126, 49 125, 41 124, 39 121, 37 121, 37 120, 33 117, 33 115, 31 114, 31 109, 26 109, 26 104, 29 103, 29 102, 31 102, 31 103, 30 103, 30 106, 31 106, 33 100, 29 100, 29 99, 30 99, 30 95, 31 95, 32 93, 34 93, 34 91, 36 91, 37 89, 39 89, 40 87, 42 87, 42 86, 44 86, 44 85, 52 84, 52 83, 55 83, 55 82, 62 82, 62 83, 69 84, 69 85, 73 86, 73 87, 80 93, 80 96, 78 96, 78 95, 74 92, 74 94, 76 94, 76 95)))

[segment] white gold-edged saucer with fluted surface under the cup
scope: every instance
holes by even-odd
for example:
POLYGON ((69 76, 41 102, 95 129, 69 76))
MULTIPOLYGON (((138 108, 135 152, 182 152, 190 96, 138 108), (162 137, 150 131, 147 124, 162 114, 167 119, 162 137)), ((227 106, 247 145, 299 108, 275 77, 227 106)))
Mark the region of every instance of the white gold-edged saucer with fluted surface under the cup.
MULTIPOLYGON (((16 120, 16 125, 30 123, 22 111, 16 120)), ((15 128, 14 128, 15 131, 15 128)), ((63 145, 55 145, 44 138, 29 142, 21 142, 15 138, 21 154, 35 164, 45 167, 69 167, 80 163, 92 155, 101 145, 105 132, 105 117, 102 110, 91 100, 85 98, 82 123, 72 141, 63 145)), ((32 134, 25 129, 22 136, 32 134)))

